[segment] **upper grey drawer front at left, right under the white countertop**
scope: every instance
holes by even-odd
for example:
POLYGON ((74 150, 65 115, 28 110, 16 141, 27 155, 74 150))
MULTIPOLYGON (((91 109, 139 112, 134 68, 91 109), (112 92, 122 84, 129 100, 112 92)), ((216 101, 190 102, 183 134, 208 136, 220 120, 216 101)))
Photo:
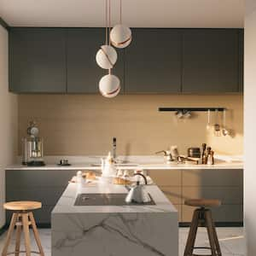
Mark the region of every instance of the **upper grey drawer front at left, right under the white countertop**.
POLYGON ((68 181, 77 171, 42 170, 42 171, 6 171, 6 186, 38 187, 38 186, 67 186, 68 181))

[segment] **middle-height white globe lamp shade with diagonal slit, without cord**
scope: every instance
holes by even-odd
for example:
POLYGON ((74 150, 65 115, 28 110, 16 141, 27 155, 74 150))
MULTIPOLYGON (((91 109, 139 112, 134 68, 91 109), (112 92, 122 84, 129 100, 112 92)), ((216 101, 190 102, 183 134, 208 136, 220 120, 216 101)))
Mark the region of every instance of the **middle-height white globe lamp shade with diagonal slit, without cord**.
POLYGON ((100 67, 110 69, 113 68, 117 57, 115 49, 110 45, 104 44, 96 53, 96 62, 100 67))

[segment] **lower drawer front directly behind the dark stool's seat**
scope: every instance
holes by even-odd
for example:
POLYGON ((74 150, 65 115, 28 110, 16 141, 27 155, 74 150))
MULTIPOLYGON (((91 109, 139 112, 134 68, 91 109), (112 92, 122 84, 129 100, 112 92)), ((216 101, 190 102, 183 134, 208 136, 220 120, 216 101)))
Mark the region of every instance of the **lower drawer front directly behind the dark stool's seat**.
POLYGON ((224 205, 241 205, 243 191, 241 187, 183 187, 183 203, 193 198, 218 199, 224 205))

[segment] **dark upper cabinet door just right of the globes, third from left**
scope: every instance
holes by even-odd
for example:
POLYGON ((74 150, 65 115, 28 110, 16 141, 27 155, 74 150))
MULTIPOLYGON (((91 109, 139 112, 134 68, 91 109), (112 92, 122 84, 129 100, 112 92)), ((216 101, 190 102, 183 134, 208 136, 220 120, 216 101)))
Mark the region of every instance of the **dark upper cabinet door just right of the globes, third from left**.
POLYGON ((125 49, 125 92, 181 90, 182 34, 169 29, 133 29, 125 49))

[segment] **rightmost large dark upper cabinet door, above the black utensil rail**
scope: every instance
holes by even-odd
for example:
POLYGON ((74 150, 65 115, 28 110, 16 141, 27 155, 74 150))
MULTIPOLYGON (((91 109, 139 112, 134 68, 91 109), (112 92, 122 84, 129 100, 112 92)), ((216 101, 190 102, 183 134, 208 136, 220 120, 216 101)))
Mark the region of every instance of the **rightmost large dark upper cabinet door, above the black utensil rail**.
POLYGON ((183 35, 183 92, 238 92, 239 30, 203 30, 183 35))

